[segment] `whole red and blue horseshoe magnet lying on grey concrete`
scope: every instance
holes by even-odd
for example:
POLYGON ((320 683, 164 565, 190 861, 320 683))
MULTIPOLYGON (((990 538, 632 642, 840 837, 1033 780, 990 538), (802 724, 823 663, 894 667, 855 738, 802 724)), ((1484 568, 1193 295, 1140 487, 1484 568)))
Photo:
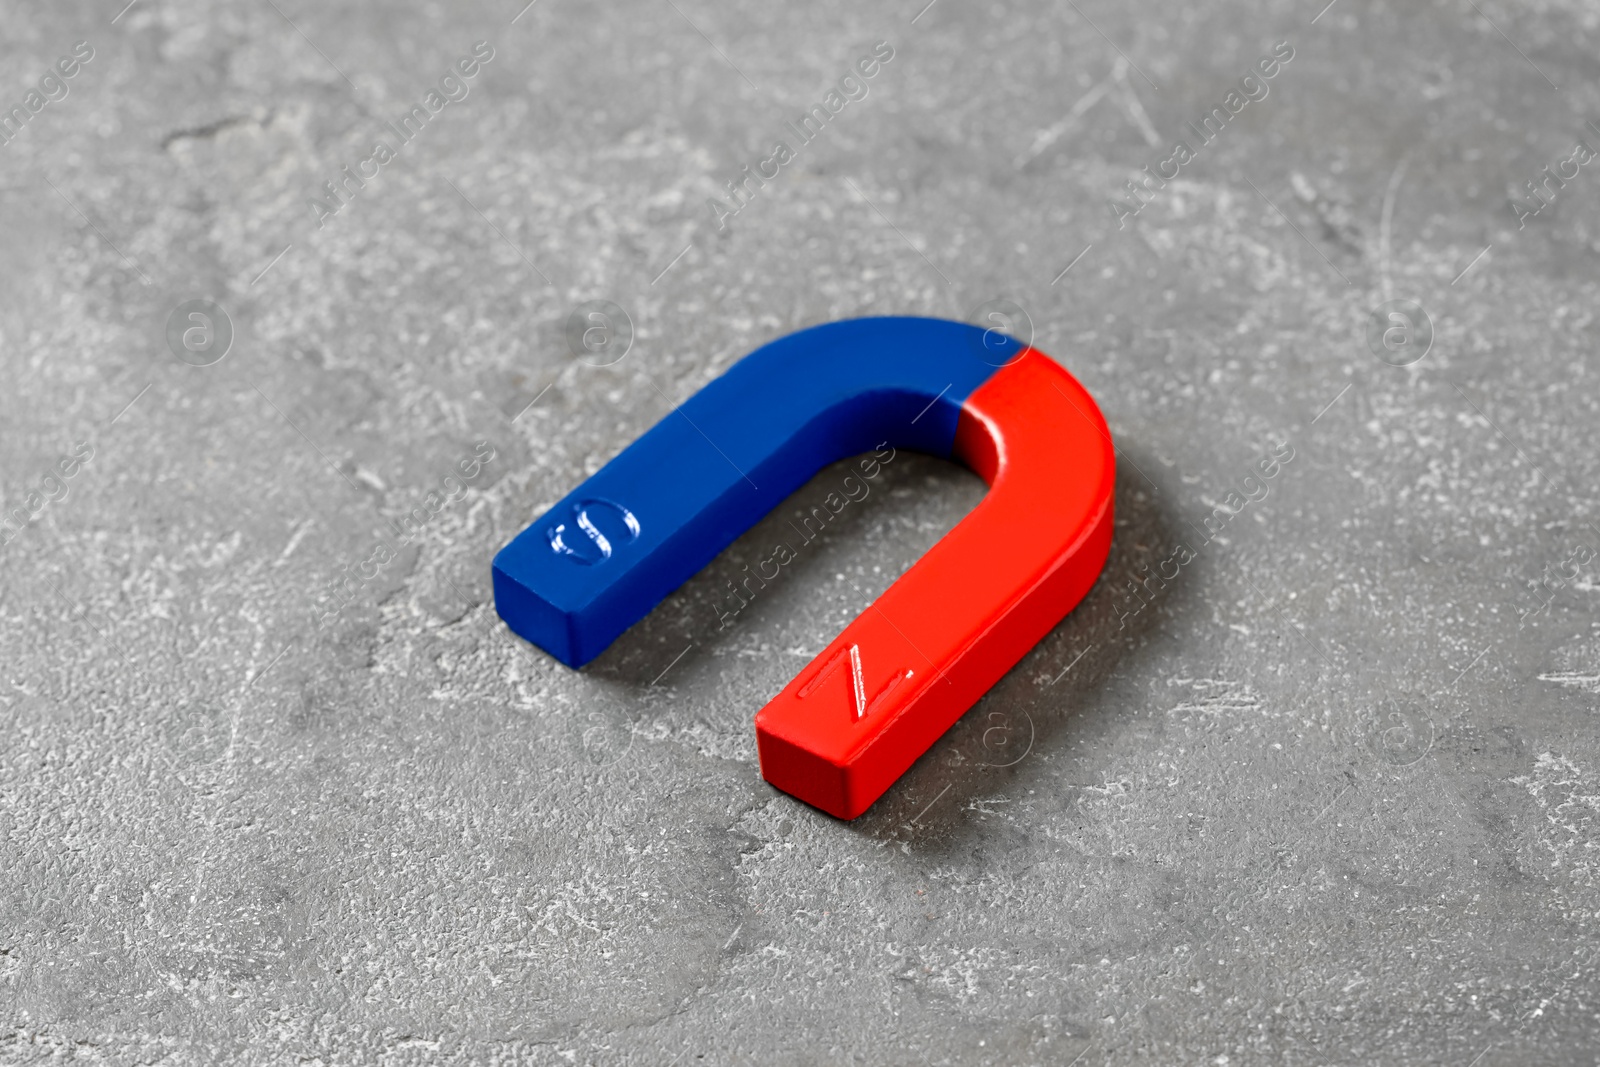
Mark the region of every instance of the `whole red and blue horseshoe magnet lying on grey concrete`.
POLYGON ((581 667, 818 470, 885 443, 960 459, 989 493, 755 717, 762 776, 854 819, 1106 563, 1110 434, 1042 352, 939 318, 762 346, 501 549, 494 608, 581 667))

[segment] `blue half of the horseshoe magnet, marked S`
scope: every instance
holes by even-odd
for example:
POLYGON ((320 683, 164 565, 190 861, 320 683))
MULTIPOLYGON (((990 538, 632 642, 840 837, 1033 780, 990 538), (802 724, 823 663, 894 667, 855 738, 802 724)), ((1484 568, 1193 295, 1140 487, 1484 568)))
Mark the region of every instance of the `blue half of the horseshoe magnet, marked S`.
POLYGON ((818 470, 950 456, 962 402, 1022 346, 941 318, 854 318, 749 354, 494 557, 506 624, 581 667, 818 470))

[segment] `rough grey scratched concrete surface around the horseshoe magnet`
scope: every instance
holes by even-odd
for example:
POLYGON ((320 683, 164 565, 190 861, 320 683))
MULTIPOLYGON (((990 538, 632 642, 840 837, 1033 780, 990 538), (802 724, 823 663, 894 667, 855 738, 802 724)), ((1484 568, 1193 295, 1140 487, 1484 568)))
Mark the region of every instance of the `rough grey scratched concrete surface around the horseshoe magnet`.
POLYGON ((3 8, 8 107, 94 54, 0 146, 0 1059, 1595 1062, 1600 173, 1510 197, 1600 144, 1600 5, 122 2, 3 8), (750 718, 970 474, 896 459, 725 630, 781 514, 582 672, 499 624, 494 550, 731 360, 997 296, 1106 411, 1115 547, 859 821, 750 718))

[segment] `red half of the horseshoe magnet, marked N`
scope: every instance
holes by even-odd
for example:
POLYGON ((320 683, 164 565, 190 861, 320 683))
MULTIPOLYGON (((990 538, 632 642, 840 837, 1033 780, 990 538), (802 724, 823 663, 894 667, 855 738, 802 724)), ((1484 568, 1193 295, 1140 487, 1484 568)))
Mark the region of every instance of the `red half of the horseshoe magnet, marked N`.
POLYGON ((955 454, 989 494, 755 717, 762 776, 866 811, 1090 590, 1115 454, 1072 374, 1027 349, 962 406, 955 454))

